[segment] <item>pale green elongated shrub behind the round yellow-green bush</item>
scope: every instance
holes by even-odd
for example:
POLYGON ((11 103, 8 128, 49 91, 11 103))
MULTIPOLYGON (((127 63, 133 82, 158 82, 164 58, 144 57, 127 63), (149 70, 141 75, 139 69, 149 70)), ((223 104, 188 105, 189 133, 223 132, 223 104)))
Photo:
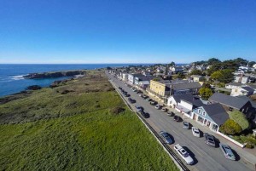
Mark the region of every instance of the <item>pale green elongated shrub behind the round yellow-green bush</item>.
POLYGON ((246 118, 246 116, 241 113, 241 111, 229 111, 230 119, 234 120, 241 126, 242 130, 245 130, 250 127, 250 124, 246 118))

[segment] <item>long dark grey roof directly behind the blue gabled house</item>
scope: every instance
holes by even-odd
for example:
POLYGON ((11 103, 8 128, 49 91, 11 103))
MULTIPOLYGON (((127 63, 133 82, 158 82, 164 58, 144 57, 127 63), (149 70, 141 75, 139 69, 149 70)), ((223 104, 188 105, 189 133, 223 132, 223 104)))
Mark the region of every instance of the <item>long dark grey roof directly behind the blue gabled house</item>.
POLYGON ((212 94, 212 96, 209 98, 209 101, 218 102, 223 105, 228 105, 238 110, 240 110, 242 106, 246 105, 248 102, 248 100, 220 93, 212 94))

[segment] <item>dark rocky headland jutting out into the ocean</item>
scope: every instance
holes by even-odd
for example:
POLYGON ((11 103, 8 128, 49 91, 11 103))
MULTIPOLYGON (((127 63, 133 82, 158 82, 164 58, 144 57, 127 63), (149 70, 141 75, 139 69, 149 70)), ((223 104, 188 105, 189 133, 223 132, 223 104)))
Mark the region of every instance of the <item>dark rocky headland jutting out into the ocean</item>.
POLYGON ((40 78, 50 78, 50 77, 72 77, 76 75, 85 75, 85 70, 77 71, 54 71, 54 72, 43 72, 43 73, 30 73, 23 76, 26 79, 40 79, 40 78))

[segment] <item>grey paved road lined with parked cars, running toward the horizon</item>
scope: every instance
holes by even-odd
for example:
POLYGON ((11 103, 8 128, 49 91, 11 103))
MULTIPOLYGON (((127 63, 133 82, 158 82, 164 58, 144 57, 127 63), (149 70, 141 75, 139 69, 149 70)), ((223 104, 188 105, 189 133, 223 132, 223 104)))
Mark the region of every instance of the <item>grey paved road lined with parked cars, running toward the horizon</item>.
MULTIPOLYGON (((197 138, 193 136, 191 129, 183 128, 183 123, 176 123, 172 117, 168 117, 166 113, 156 110, 153 105, 149 105, 148 101, 143 100, 138 94, 134 93, 131 88, 125 86, 125 83, 113 78, 112 82, 117 86, 124 88, 131 98, 137 100, 136 105, 142 105, 145 111, 148 111, 150 117, 147 119, 148 123, 156 130, 165 130, 175 140, 175 145, 180 144, 186 147, 191 156, 195 159, 195 164, 188 166, 190 170, 206 170, 206 171, 224 171, 224 170, 237 170, 247 171, 254 170, 253 164, 247 162, 243 158, 238 161, 230 161, 226 159, 219 148, 213 148, 204 143, 204 138, 197 138)), ((209 131, 209 133, 211 133, 209 131)), ((174 145, 173 144, 173 145, 174 145)), ((171 148, 173 149, 173 145, 171 148)))

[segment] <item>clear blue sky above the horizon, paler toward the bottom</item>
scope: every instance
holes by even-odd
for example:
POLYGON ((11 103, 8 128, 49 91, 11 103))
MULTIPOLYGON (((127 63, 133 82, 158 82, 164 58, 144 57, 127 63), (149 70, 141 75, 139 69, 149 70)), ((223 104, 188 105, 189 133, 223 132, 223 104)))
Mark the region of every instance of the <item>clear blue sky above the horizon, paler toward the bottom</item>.
POLYGON ((0 0, 0 63, 256 60, 255 0, 0 0))

